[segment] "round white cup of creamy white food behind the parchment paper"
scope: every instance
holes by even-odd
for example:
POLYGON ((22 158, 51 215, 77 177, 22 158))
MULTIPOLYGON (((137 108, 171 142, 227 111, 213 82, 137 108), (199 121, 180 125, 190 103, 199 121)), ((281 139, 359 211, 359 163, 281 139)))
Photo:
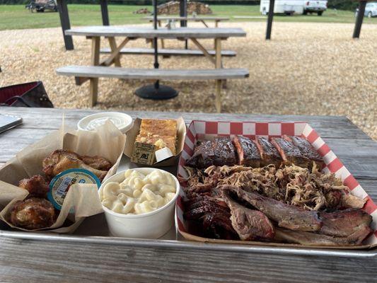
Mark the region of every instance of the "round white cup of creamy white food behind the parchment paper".
POLYGON ((95 113, 92 115, 88 115, 86 117, 83 117, 78 123, 77 123, 77 128, 84 130, 84 131, 93 131, 91 127, 91 122, 93 121, 102 121, 98 122, 100 125, 103 123, 105 120, 110 119, 115 124, 115 127, 120 129, 120 132, 125 134, 129 129, 132 128, 132 125, 134 124, 132 117, 122 113, 122 112, 100 112, 100 113, 95 113), (122 123, 122 125, 120 124, 122 123))

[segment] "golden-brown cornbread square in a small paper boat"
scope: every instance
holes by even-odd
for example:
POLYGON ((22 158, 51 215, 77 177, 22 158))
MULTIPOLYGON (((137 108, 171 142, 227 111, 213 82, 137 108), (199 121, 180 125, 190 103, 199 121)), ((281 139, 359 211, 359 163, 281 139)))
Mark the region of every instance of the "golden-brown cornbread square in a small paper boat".
POLYGON ((172 154, 176 154, 177 121, 175 120, 141 120, 139 134, 136 141, 154 144, 157 149, 168 147, 172 154))

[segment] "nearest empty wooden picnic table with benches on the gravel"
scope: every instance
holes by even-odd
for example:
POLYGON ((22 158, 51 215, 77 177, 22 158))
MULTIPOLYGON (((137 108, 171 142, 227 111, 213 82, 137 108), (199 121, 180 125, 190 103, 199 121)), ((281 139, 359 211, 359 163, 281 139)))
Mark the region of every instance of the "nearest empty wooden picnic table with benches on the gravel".
MULTIPOLYGON (((153 38, 165 38, 165 39, 176 39, 176 40, 191 40, 198 48, 201 50, 209 62, 214 64, 215 70, 219 71, 219 69, 223 68, 223 64, 221 61, 221 40, 226 40, 228 37, 245 37, 246 33, 242 28, 159 28, 155 30, 154 28, 149 27, 129 27, 129 26, 86 26, 80 28, 73 28, 70 30, 66 30, 66 35, 77 35, 77 36, 85 36, 92 40, 92 54, 91 54, 91 64, 92 66, 101 66, 101 67, 109 67, 112 64, 115 64, 115 67, 121 67, 120 64, 120 56, 122 54, 122 49, 127 42, 130 40, 136 40, 138 38, 144 39, 153 39, 153 38), (100 37, 108 38, 110 43, 110 55, 105 58, 103 61, 100 61, 100 37), (117 45, 115 41, 115 37, 125 37, 122 42, 117 45), (209 50, 199 42, 199 40, 203 39, 213 39, 214 40, 214 49, 215 49, 215 56, 211 55, 209 50)), ((98 77, 100 74, 103 74, 103 69, 96 68, 95 70, 91 71, 88 74, 95 73, 95 77, 93 76, 82 76, 83 69, 80 69, 80 72, 76 72, 75 69, 77 67, 70 68, 69 70, 66 69, 57 69, 58 74, 66 75, 66 76, 75 76, 76 83, 81 84, 85 81, 90 80, 90 104, 91 106, 95 105, 97 102, 98 96, 98 77), (73 72, 74 71, 74 72, 73 72), (77 74, 77 75, 75 75, 77 74)), ((213 69, 212 69, 213 70, 213 69)), ((124 79, 124 69, 122 71, 122 79, 124 79)), ((129 76, 129 72, 133 71, 129 69, 127 71, 126 76, 129 76)), ((230 70, 231 71, 231 70, 230 70)), ((239 71, 239 70, 238 70, 239 71)), ((244 74, 243 77, 248 76, 248 71, 241 70, 244 74), (246 74, 247 73, 247 74, 246 74)), ((154 70, 153 74, 155 74, 156 79, 161 79, 158 76, 160 74, 156 74, 156 72, 161 72, 158 70, 154 70)), ((176 71, 179 73, 180 71, 176 71)), ((138 70, 139 74, 139 70, 138 70)), ((197 76, 197 71, 192 70, 181 70, 181 74, 185 75, 186 79, 201 79, 197 76)), ((132 73, 132 75, 134 75, 132 73)), ((216 75, 216 74, 215 74, 216 75)), ((222 76, 222 74, 221 74, 222 76)), ((116 74, 113 74, 113 77, 117 77, 116 74)), ((130 76, 130 79, 137 79, 134 76, 130 76)), ((205 79, 205 77, 203 77, 205 79)), ((138 79, 143 79, 143 75, 139 74, 138 79)), ((149 76, 148 79, 151 79, 149 76)), ((184 78, 182 78, 184 79, 184 78)), ((211 79, 214 79, 214 76, 211 76, 211 79)), ((223 78, 216 79, 216 109, 218 112, 221 111, 221 80, 223 78)))

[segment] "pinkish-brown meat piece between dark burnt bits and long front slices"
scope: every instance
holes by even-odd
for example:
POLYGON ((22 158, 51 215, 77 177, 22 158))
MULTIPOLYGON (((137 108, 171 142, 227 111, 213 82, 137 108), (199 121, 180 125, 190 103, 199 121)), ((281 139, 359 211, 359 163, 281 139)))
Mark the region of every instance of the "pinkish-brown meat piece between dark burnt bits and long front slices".
POLYGON ((265 214, 243 207, 231 200, 225 191, 223 191, 223 199, 231 209, 231 223, 241 240, 272 240, 274 238, 274 226, 265 214))

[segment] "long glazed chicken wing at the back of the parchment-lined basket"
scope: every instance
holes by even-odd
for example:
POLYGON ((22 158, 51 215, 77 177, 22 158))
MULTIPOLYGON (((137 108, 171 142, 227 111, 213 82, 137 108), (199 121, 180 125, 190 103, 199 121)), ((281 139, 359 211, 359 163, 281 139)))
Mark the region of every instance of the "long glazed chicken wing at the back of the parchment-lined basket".
POLYGON ((73 151, 58 149, 47 156, 43 162, 42 171, 50 178, 71 168, 83 168, 91 171, 100 180, 105 178, 111 163, 100 156, 80 156, 73 151), (106 170, 105 170, 106 169, 106 170))

